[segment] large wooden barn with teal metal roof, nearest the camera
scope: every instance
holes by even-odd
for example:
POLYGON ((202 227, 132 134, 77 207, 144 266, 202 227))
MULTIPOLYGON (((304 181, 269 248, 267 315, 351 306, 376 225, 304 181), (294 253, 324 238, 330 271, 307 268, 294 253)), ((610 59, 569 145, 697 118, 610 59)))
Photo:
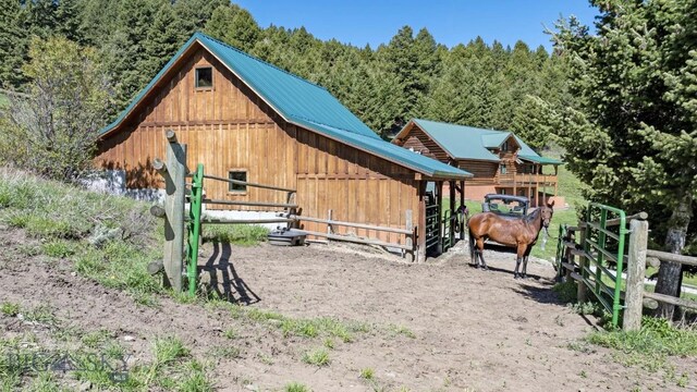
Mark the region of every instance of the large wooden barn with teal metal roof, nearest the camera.
MULTIPOLYGON (((440 250, 448 235, 437 189, 452 184, 445 209, 453 210, 455 185, 463 189, 472 176, 382 140, 325 88, 201 33, 100 132, 96 164, 124 173, 127 188, 161 188, 152 160, 164 156, 167 130, 187 145, 189 168, 204 163, 207 173, 296 189, 304 217, 326 218, 331 210, 337 221, 401 229, 413 217, 420 258, 440 250)), ((207 183, 205 192, 223 200, 285 203, 278 192, 227 183, 207 183)), ((302 223, 306 230, 327 230, 319 222, 302 223)), ((406 241, 400 233, 332 229, 406 241)))

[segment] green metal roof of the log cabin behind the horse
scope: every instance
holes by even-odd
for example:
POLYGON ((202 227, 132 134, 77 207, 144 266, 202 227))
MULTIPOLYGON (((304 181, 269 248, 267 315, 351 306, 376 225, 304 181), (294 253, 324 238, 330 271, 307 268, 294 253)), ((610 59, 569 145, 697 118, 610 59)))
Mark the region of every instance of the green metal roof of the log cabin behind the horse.
POLYGON ((511 135, 521 145, 518 158, 542 164, 562 164, 557 159, 540 157, 523 139, 510 131, 482 130, 474 126, 450 124, 430 120, 414 119, 439 146, 454 159, 477 159, 499 162, 497 155, 489 148, 497 148, 511 135))

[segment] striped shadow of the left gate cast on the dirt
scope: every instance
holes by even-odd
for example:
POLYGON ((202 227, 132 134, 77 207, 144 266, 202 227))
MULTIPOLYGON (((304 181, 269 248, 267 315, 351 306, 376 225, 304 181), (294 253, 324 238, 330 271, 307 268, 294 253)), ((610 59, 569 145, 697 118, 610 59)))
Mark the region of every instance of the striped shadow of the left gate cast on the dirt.
MULTIPOLYGON (((219 298, 231 303, 250 305, 261 301, 259 296, 240 278, 235 267, 230 262, 232 248, 228 243, 213 242, 213 253, 199 267, 201 278, 207 274, 209 294, 217 294, 219 298)), ((201 279, 204 280, 204 279, 201 279)))

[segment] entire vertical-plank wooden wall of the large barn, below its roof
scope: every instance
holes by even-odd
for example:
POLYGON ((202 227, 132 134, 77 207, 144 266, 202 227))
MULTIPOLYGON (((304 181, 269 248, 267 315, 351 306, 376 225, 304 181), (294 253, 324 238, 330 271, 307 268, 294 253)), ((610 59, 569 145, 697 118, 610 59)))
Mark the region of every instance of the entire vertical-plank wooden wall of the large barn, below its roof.
MULTIPOLYGON (((405 211, 417 217, 419 196, 412 170, 286 124, 234 74, 203 49, 197 49, 163 77, 145 108, 130 124, 99 145, 97 164, 126 171, 130 188, 162 187, 152 170, 164 157, 164 131, 176 132, 187 145, 187 164, 205 164, 206 173, 227 176, 247 170, 247 181, 297 189, 302 215, 358 223, 404 228, 405 211), (213 86, 196 89, 195 70, 212 66, 213 86)), ((228 184, 207 180, 210 198, 284 203, 286 195, 259 188, 229 193, 228 184)), ((224 206, 209 206, 221 208, 224 206)), ((264 210, 259 207, 239 209, 264 210)), ((327 225, 303 222, 306 230, 326 232, 327 225)), ((418 224, 414 222, 414 224, 418 224)), ((400 234, 335 228, 383 241, 403 242, 400 234)))

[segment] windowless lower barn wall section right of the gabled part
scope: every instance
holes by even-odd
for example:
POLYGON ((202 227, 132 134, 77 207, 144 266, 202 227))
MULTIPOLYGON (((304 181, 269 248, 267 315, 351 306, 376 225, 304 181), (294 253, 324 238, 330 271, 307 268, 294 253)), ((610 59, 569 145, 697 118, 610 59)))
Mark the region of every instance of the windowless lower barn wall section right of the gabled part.
MULTIPOLYGON (((296 128, 297 192, 302 215, 339 221, 405 228, 405 211, 418 213, 414 172, 381 158, 303 128, 296 128)), ((304 229, 327 231, 327 224, 303 222, 304 229)), ((403 235, 335 226, 334 232, 403 242, 403 235)))

